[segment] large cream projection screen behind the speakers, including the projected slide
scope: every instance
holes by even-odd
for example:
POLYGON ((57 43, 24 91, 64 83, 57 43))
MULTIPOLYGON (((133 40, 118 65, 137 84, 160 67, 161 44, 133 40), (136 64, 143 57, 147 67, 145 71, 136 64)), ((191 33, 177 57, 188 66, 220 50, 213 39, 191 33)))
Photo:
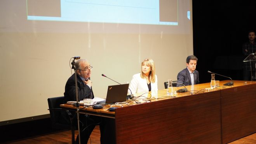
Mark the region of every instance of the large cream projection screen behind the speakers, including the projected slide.
POLYGON ((93 66, 94 95, 131 82, 155 62, 158 89, 193 54, 192 0, 1 0, 0 122, 49 114, 63 96, 70 59, 93 66))

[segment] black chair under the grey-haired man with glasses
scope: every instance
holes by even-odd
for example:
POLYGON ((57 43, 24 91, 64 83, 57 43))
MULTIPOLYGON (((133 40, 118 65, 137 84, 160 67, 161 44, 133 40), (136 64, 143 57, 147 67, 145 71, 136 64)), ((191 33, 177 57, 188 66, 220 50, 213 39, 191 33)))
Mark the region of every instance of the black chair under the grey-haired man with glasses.
POLYGON ((63 104, 63 97, 48 98, 49 111, 52 121, 52 128, 59 130, 71 130, 71 143, 75 144, 75 126, 73 123, 73 116, 70 111, 62 109, 59 105, 63 104))

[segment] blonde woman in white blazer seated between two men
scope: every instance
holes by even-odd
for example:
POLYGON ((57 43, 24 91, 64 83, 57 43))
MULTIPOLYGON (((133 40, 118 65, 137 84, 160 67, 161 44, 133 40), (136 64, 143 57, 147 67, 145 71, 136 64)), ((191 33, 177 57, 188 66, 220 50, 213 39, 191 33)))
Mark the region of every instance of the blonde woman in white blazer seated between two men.
POLYGON ((141 72, 132 76, 129 89, 132 94, 158 90, 155 63, 152 59, 144 59, 141 62, 141 72))

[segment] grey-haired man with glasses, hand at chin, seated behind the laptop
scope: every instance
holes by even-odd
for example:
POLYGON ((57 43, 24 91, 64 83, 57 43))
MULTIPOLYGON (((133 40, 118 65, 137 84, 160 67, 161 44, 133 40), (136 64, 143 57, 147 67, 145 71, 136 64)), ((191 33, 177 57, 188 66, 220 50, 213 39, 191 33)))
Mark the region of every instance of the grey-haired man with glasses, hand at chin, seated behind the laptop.
MULTIPOLYGON (((85 59, 79 59, 75 62, 75 67, 77 68, 77 90, 78 90, 78 102, 84 99, 93 99, 94 95, 92 92, 92 81, 91 68, 92 66, 85 59)), ((64 92, 64 103, 67 101, 77 101, 76 88, 75 88, 75 74, 68 78, 65 86, 64 92)), ((81 144, 87 144, 87 141, 97 123, 99 123, 100 118, 96 116, 79 115, 80 123, 80 142, 81 144), (88 127, 87 127, 88 126, 88 127), (87 128, 85 128, 87 127, 87 128)), ((77 122, 77 119, 74 120, 77 122)), ((77 143, 78 135, 77 135, 77 143)))

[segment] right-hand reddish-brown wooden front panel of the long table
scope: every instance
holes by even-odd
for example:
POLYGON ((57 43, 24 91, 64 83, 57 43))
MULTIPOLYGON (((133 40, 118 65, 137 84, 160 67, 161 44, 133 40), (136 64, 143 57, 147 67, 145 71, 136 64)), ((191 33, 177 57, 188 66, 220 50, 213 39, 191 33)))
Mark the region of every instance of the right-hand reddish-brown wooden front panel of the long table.
POLYGON ((223 144, 255 133, 256 84, 223 89, 221 96, 223 144))

